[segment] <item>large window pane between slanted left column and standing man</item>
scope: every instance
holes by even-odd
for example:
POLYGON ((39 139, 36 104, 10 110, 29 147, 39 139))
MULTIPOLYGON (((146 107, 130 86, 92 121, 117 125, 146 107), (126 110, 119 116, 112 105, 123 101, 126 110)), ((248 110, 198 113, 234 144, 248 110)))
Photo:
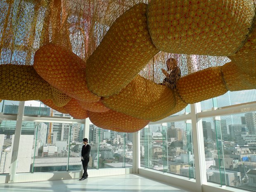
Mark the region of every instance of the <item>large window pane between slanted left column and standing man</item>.
POLYGON ((79 135, 81 124, 22 122, 17 173, 81 170, 79 135))

